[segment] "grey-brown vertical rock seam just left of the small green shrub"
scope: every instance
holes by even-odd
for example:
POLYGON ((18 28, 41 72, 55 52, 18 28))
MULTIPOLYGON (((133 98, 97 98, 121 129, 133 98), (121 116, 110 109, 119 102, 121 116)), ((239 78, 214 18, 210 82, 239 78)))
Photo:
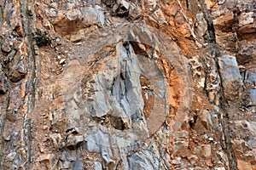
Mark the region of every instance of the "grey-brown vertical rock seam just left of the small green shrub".
POLYGON ((25 32, 25 41, 27 43, 27 50, 29 56, 30 63, 30 76, 28 81, 26 82, 26 94, 28 94, 28 104, 27 111, 23 116, 24 121, 24 129, 25 129, 25 141, 27 147, 27 156, 26 156, 26 168, 30 168, 30 162, 32 162, 32 119, 27 118, 27 115, 31 113, 32 109, 35 106, 35 91, 36 84, 38 82, 36 72, 40 72, 39 68, 37 68, 36 62, 38 59, 38 54, 36 55, 33 43, 33 33, 34 33, 34 25, 36 20, 36 14, 34 10, 34 0, 23 0, 20 3, 21 6, 21 14, 22 14, 22 26, 25 32))

